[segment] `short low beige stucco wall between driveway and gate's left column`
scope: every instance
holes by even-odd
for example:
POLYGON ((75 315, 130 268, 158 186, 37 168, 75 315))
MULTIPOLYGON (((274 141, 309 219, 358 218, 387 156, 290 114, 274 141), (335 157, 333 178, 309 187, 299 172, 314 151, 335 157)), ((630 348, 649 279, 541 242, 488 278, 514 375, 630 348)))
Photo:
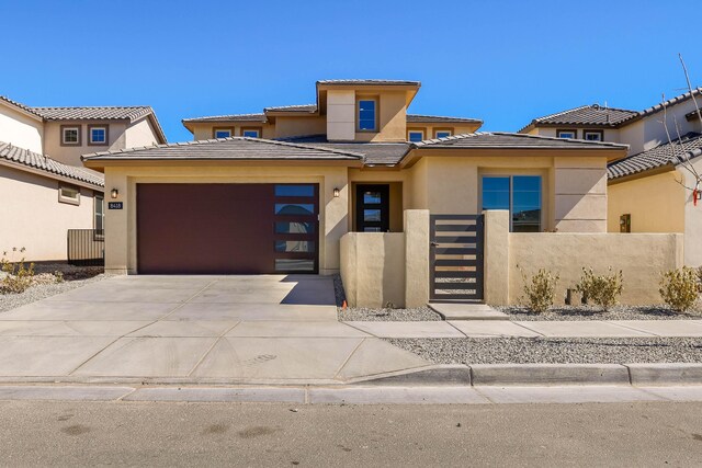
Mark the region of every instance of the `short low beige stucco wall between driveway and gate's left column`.
POLYGON ((405 235, 344 235, 341 238, 341 278, 351 307, 404 306, 405 235))

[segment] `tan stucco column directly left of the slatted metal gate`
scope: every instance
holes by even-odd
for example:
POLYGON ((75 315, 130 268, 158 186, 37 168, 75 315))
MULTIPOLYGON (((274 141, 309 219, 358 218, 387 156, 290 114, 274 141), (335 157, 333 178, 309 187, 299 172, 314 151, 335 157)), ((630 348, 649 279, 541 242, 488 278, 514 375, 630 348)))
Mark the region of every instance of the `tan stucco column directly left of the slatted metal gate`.
POLYGON ((405 307, 429 301, 429 210, 405 210, 405 307))

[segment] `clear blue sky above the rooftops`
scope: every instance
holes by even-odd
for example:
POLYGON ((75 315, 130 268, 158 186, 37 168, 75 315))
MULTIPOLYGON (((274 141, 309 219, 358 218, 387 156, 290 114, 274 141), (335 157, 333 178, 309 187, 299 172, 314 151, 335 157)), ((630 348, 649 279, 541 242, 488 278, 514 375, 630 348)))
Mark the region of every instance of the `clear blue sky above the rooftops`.
POLYGON ((148 104, 184 117, 315 101, 315 81, 422 82, 410 112, 486 130, 702 84, 698 1, 0 0, 0 94, 27 105, 148 104), (692 15, 693 16, 693 15, 692 15), (693 16, 694 18, 694 16, 693 16))

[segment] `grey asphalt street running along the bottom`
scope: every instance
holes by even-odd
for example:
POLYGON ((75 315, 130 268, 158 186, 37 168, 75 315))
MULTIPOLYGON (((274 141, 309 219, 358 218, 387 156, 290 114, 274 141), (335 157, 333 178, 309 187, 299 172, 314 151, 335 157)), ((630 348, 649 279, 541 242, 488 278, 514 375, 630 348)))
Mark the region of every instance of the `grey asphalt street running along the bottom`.
POLYGON ((0 402, 3 466, 699 466, 702 403, 0 402))

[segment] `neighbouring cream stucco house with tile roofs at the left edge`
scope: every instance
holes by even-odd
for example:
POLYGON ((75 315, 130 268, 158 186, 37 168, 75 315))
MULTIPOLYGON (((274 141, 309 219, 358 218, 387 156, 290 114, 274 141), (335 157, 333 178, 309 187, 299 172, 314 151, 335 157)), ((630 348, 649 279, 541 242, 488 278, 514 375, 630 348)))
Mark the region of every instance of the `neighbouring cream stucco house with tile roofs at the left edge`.
POLYGON ((150 107, 30 107, 0 96, 0 253, 67 258, 68 229, 103 229, 104 182, 80 155, 165 144, 150 107))

